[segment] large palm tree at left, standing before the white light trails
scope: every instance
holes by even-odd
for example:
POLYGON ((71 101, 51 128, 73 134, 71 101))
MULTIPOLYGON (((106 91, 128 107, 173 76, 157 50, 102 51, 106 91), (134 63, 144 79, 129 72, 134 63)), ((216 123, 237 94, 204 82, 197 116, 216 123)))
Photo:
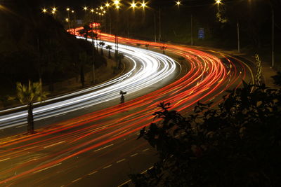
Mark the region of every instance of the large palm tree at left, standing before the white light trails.
POLYGON ((28 82, 28 86, 17 83, 17 96, 9 99, 17 99, 22 104, 27 104, 27 132, 34 133, 33 102, 41 102, 46 99, 48 92, 41 90, 41 83, 28 82))

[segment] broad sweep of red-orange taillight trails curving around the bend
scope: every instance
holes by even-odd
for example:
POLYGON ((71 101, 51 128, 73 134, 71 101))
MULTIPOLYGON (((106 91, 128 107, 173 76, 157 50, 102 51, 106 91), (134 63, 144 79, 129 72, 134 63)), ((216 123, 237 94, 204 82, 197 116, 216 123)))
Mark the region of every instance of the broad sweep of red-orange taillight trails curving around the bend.
MULTIPOLYGON (((103 40, 112 41, 112 39, 113 36, 103 34, 103 40)), ((147 43, 122 38, 119 39, 119 42, 130 44, 147 43)), ((150 43, 150 46, 159 48, 162 44, 150 43)), ((90 173, 93 169, 112 165, 119 157, 107 157, 112 155, 114 151, 124 146, 130 151, 135 149, 134 146, 131 146, 131 139, 136 138, 136 132, 150 125, 153 118, 152 113, 155 112, 157 103, 162 101, 171 102, 171 109, 176 109, 183 113, 190 111, 191 106, 198 101, 214 101, 215 106, 221 101, 221 99, 217 98, 221 97, 224 90, 237 88, 242 79, 251 80, 251 77, 247 77, 247 74, 251 74, 251 69, 233 57, 217 53, 205 53, 202 50, 195 50, 185 46, 167 45, 167 47, 170 53, 185 57, 185 60, 188 61, 188 64, 182 64, 182 72, 186 71, 185 74, 181 74, 177 80, 164 88, 132 99, 125 104, 94 111, 93 113, 55 124, 52 128, 38 130, 37 134, 27 137, 15 136, 2 141, 0 143, 0 164, 6 163, 8 165, 10 160, 13 160, 13 166, 0 169, 0 184, 17 185, 28 183, 29 185, 39 186, 44 183, 47 185, 50 183, 49 179, 57 179, 58 175, 77 173, 77 170, 85 170, 85 173, 90 173), (119 140, 124 139, 124 137, 128 141, 122 144, 119 143, 119 140), (108 147, 110 147, 110 151, 105 153, 107 155, 105 165, 100 164, 99 167, 91 168, 91 171, 88 171, 86 168, 91 163, 97 162, 98 159, 100 159, 98 160, 100 162, 105 160, 105 158, 99 157, 98 151, 108 147), (46 152, 48 149, 52 151, 46 152), (78 156, 81 158, 79 162, 75 160, 78 156), (86 159, 83 159, 85 156, 86 159), (79 167, 79 169, 72 167, 71 162, 77 162, 76 167, 79 167), (40 175, 41 172, 48 169, 53 169, 52 171, 55 172, 40 175), (20 172, 15 174, 17 171, 20 172), (29 179, 37 179, 37 181, 30 181, 29 179)), ((125 46, 120 45, 121 48, 125 48, 125 46)), ((133 48, 133 51, 138 51, 138 49, 133 48)), ((143 68, 137 70, 137 78, 129 81, 130 76, 122 81, 122 83, 126 84, 133 82, 133 85, 126 89, 135 90, 134 86, 141 89, 143 88, 141 85, 155 83, 159 76, 164 78, 174 71, 176 65, 169 57, 148 50, 141 50, 141 53, 143 55, 155 54, 158 60, 151 59, 151 55, 145 55, 145 60, 141 58, 142 60, 139 61, 142 63, 143 68), (147 60, 153 63, 148 64, 147 60), (166 65, 164 65, 165 60, 168 61, 166 65), (148 70, 142 71, 145 68, 148 68, 148 70), (156 70, 153 71, 152 69, 156 70), (162 74, 159 74, 159 71, 163 71, 162 74), (163 75, 164 72, 167 72, 166 75, 163 75), (140 80, 143 76, 149 77, 140 80), (155 81, 152 81, 153 79, 155 81)), ((131 60, 133 61, 134 57, 131 60)), ((120 88, 115 88, 115 92, 119 90, 120 88)), ((107 91, 111 93, 110 90, 107 91)), ((110 97, 114 96, 111 95, 110 97)), ((92 98, 94 99, 94 97, 92 98)), ((104 101, 107 99, 105 97, 104 101)), ((83 100, 83 97, 81 100, 83 100)), ((159 120, 155 120, 155 123, 157 121, 159 120)), ((131 153, 130 151, 128 153, 131 153)), ((124 153, 124 155, 126 154, 124 153)), ((84 179, 86 176, 87 174, 81 174, 79 180, 84 179)), ((70 181, 72 180, 74 179, 70 179, 70 181)))

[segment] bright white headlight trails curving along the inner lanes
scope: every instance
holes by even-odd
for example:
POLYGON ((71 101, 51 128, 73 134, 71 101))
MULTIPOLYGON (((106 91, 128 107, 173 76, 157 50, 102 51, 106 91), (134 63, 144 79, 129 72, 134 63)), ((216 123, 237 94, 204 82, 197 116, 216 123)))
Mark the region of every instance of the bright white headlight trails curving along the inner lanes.
MULTIPOLYGON (((113 43, 105 43, 113 46, 113 43)), ((115 50, 115 48, 113 48, 113 50, 115 50)), ((138 92, 143 88, 147 88, 150 85, 162 81, 167 76, 171 76, 176 70, 176 62, 165 55, 124 45, 119 45, 119 51, 124 53, 125 57, 133 63, 132 68, 126 74, 112 81, 93 86, 92 88, 55 97, 53 99, 47 99, 45 103, 53 103, 36 107, 34 109, 34 120, 60 116, 64 113, 77 111, 85 107, 116 99, 119 97, 120 90, 126 90, 126 92, 130 93, 138 92), (72 98, 65 99, 69 97, 72 98), (63 101, 61 101, 62 99, 63 101)), ((0 112, 4 113, 24 107, 25 106, 20 106, 0 112)), ((0 130, 25 124, 26 118, 27 111, 1 116, 0 130)))

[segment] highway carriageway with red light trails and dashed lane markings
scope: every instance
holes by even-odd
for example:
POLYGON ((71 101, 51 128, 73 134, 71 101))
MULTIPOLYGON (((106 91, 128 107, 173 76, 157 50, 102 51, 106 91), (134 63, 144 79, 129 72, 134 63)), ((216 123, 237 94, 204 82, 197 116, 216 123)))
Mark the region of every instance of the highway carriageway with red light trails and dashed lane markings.
MULTIPOLYGON (((104 41, 113 38, 102 36, 104 41)), ((119 43, 133 46, 148 42, 119 38, 119 43)), ((150 50, 132 49, 157 54, 152 50, 157 51, 163 45, 149 44, 150 50)), ((154 78, 150 74, 144 80, 148 86, 129 92, 125 104, 116 104, 117 91, 121 90, 117 88, 115 99, 74 109, 57 118, 37 120, 36 134, 1 139, 0 186, 118 186, 128 181, 128 174, 145 172, 157 160, 155 150, 136 138, 139 130, 152 122, 152 113, 159 102, 171 102, 171 109, 181 113, 192 111, 198 101, 214 102, 215 107, 226 94, 225 90, 237 88, 242 79, 253 79, 249 64, 235 57, 187 46, 166 47, 167 55, 184 57, 184 62, 177 64, 158 53, 160 59, 169 59, 166 72, 174 68, 173 71, 155 83, 150 83, 154 78), (39 123, 47 126, 38 127, 39 123)), ((165 69, 159 59, 151 61, 159 63, 153 75, 165 69)), ((141 67, 137 71, 144 68, 144 65, 137 66, 141 67)), ((137 87, 138 84, 132 85, 132 90, 137 87)))

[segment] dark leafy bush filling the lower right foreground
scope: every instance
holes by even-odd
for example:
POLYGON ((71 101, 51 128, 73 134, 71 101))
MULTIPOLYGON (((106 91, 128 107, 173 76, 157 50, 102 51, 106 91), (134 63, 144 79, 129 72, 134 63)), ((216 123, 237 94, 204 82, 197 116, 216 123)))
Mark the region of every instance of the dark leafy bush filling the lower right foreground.
POLYGON ((132 174, 136 186, 279 186, 281 182, 280 90, 229 90, 218 109, 198 103, 183 117, 161 103, 159 123, 140 137, 157 148, 159 162, 132 174))

